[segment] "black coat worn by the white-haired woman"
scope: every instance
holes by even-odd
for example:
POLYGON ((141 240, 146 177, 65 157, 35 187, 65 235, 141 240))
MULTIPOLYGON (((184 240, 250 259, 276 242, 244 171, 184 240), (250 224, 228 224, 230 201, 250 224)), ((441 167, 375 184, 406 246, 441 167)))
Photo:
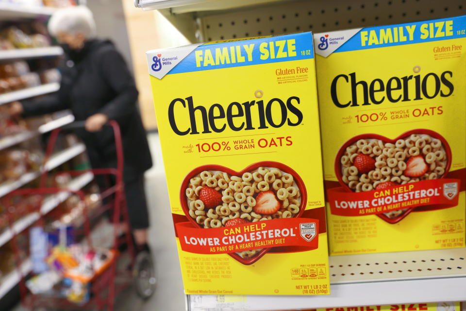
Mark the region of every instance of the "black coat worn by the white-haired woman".
MULTIPOLYGON (((70 54, 61 68, 57 93, 39 101, 24 101, 24 116, 71 109, 76 121, 96 113, 118 122, 123 138, 125 174, 139 174, 152 166, 146 131, 136 101, 138 91, 121 54, 110 41, 89 40, 79 53, 70 54), (71 58, 70 58, 71 56, 71 58)), ((83 139, 94 168, 115 165, 115 142, 110 127, 89 133, 76 131, 83 139)))

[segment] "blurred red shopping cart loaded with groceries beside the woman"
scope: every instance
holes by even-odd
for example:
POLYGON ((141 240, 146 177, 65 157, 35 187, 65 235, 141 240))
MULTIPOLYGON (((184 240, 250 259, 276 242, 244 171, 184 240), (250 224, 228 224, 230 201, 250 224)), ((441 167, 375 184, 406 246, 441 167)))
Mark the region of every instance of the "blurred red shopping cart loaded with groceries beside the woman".
MULTIPOLYGON (((84 122, 74 122, 63 128, 73 129, 83 126, 84 122)), ((56 186, 56 184, 52 187, 46 187, 48 176, 46 163, 52 155, 61 129, 56 129, 50 134, 44 165, 41 167, 40 187, 34 189, 14 190, 3 198, 3 203, 8 210, 7 213, 10 230, 12 232, 12 245, 15 253, 17 273, 20 276, 19 289, 21 294, 21 303, 26 308, 100 310, 107 307, 107 310, 112 311, 114 309, 116 294, 120 293, 128 287, 128 285, 133 284, 136 289, 136 293, 143 299, 149 298, 154 292, 156 277, 153 259, 147 252, 139 252, 135 255, 124 192, 123 147, 120 129, 116 121, 109 121, 106 126, 111 126, 114 132, 116 144, 116 168, 67 171, 54 174, 68 174, 75 178, 83 176, 84 174, 93 174, 95 177, 100 176, 100 178, 103 177, 109 181, 107 183, 108 187, 100 189, 100 198, 102 202, 100 207, 93 210, 92 213, 89 213, 89 207, 82 190, 60 188, 56 186), (58 262, 55 259, 61 256, 58 266, 55 267, 51 264, 51 268, 49 267, 48 269, 53 271, 53 276, 60 275, 62 277, 60 282, 63 282, 63 280, 71 280, 71 282, 77 280, 80 282, 79 284, 83 284, 86 299, 83 299, 80 303, 76 303, 75 301, 73 302, 72 299, 70 299, 70 296, 64 296, 63 293, 69 293, 70 289, 67 289, 66 287, 64 288, 63 283, 60 283, 61 287, 58 292, 55 293, 54 289, 58 286, 53 280, 50 281, 50 277, 47 281, 53 283, 51 289, 48 289, 45 293, 32 291, 31 287, 27 286, 29 284, 28 281, 31 281, 32 277, 38 277, 40 275, 31 272, 31 259, 24 255, 24 249, 22 249, 21 245, 18 244, 18 236, 21 233, 17 229, 18 219, 20 220, 27 215, 26 217, 29 217, 29 219, 34 219, 33 224, 29 227, 30 230, 32 228, 43 228, 46 225, 44 217, 50 211, 50 207, 47 207, 46 202, 47 200, 50 201, 52 196, 57 195, 76 195, 80 198, 80 202, 82 202, 81 219, 83 221, 82 225, 71 228, 72 235, 74 243, 76 243, 76 245, 80 245, 78 248, 80 250, 85 249, 87 257, 88 254, 93 254, 93 256, 90 260, 86 261, 86 265, 84 265, 83 269, 87 272, 85 276, 73 275, 73 272, 70 271, 73 271, 73 269, 77 270, 81 267, 81 263, 76 262, 76 258, 68 256, 68 253, 60 253, 55 256, 54 254, 50 254, 50 249, 48 249, 47 260, 49 263, 58 262), (18 202, 18 199, 24 199, 28 196, 40 197, 40 199, 35 200, 35 204, 33 206, 15 204, 18 202), (28 210, 24 210, 25 208, 28 210), (102 217, 110 218, 110 223, 113 225, 113 242, 111 242, 111 247, 109 249, 98 251, 93 246, 91 235, 93 224, 96 220, 101 219, 102 217), (97 265, 95 263, 96 260, 94 260, 97 256, 96 254, 99 254, 100 257, 98 260, 98 268, 93 266, 97 265), (123 264, 121 264, 122 262, 123 264), (68 265, 72 267, 72 269, 65 269, 68 265)), ((53 178, 53 180, 57 180, 57 178, 53 178)), ((58 245, 57 248, 54 248, 53 250, 54 252, 61 252, 61 249, 64 247, 66 248, 66 245, 58 245)), ((42 273, 48 273, 49 270, 46 269, 46 272, 42 273)), ((56 282, 59 282, 59 280, 56 280, 56 282)))

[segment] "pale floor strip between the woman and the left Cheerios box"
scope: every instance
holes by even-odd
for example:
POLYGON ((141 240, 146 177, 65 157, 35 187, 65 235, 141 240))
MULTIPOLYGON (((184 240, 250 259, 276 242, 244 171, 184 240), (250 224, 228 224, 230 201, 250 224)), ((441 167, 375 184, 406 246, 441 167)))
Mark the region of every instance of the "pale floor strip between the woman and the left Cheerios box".
MULTIPOLYGON (((117 297, 115 310, 183 311, 183 283, 158 135, 150 134, 149 143, 154 167, 146 173, 146 194, 150 207, 150 245, 158 276, 157 289, 148 301, 142 301, 134 294, 134 290, 129 288, 117 297)), ((24 309, 17 307, 14 311, 24 309)))

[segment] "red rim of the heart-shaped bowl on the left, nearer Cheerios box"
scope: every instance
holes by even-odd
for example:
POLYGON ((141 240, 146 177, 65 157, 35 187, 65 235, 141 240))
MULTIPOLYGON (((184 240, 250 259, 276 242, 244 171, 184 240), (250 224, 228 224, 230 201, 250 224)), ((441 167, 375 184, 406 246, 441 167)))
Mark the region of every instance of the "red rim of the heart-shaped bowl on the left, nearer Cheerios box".
MULTIPOLYGON (((219 171, 219 172, 228 173, 228 174, 230 174, 232 176, 233 175, 242 176, 243 173, 252 172, 252 171, 256 170, 257 168, 259 168, 261 166, 277 168, 280 171, 282 171, 283 173, 288 173, 288 174, 291 174, 293 176, 293 179, 296 182, 296 184, 298 186, 298 189, 301 192, 300 211, 294 217, 300 217, 302 215, 302 213, 304 212, 304 209, 306 207, 306 202, 307 202, 307 192, 306 192, 306 187, 304 186, 304 182, 302 181, 300 175, 298 175, 298 173, 296 173, 292 168, 290 168, 287 165, 284 165, 283 163, 275 162, 275 161, 261 161, 261 162, 253 163, 250 166, 246 167, 245 169, 243 169, 242 171, 239 171, 239 172, 235 172, 230 168, 227 168, 227 167, 224 167, 224 166, 221 166, 221 165, 216 165, 216 164, 207 164, 207 165, 202 165, 202 166, 199 166, 199 167, 195 168, 194 170, 189 172, 186 175, 186 177, 184 177, 183 182, 181 184, 180 203, 181 203, 181 207, 183 208, 184 214, 186 215, 186 217, 189 219, 189 221, 191 223, 193 223, 197 227, 202 228, 196 222, 195 219, 193 219, 193 218, 191 218, 191 216, 189 216, 189 207, 188 207, 185 191, 186 191, 186 188, 188 187, 189 180, 192 177, 197 176, 202 171, 219 171)), ((208 229, 205 229, 205 230, 208 230, 208 229)), ((259 260, 269 250, 270 250, 270 248, 264 248, 256 256, 248 258, 248 259, 242 258, 241 256, 239 256, 236 253, 230 253, 228 255, 230 255, 234 259, 238 260, 242 264, 249 265, 249 264, 252 264, 252 263, 256 262, 257 260, 259 260)))

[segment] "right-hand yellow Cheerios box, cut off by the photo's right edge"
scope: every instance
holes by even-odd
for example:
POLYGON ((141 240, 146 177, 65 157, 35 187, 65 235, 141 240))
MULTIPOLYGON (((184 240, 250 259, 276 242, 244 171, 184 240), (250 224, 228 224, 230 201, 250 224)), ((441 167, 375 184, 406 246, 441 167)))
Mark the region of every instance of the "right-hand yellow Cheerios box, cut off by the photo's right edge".
POLYGON ((314 42, 330 254, 464 247, 466 17, 314 42))

